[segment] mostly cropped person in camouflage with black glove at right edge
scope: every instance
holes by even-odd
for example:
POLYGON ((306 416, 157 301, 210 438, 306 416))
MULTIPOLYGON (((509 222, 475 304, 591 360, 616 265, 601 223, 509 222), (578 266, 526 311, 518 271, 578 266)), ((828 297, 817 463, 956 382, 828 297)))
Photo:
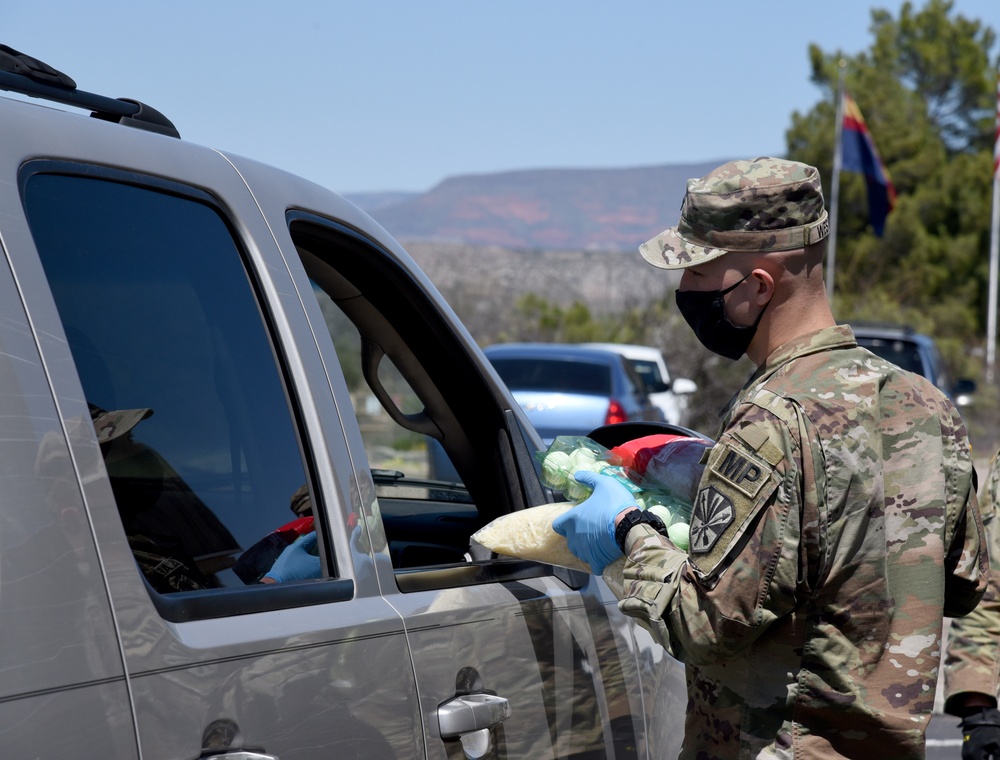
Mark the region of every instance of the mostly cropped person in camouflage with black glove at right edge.
POLYGON ((990 585, 982 602, 952 621, 945 650, 945 712, 962 718, 962 760, 1000 758, 1000 452, 990 462, 981 504, 990 540, 990 585))

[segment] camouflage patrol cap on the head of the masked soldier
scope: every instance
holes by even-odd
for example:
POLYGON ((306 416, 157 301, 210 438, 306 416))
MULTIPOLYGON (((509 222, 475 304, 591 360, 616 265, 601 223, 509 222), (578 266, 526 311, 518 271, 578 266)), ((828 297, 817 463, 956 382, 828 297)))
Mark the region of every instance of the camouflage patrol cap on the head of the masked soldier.
POLYGON ((787 251, 830 232, 819 172, 780 158, 730 161, 689 179, 681 218, 639 246, 661 269, 684 269, 730 251, 787 251))

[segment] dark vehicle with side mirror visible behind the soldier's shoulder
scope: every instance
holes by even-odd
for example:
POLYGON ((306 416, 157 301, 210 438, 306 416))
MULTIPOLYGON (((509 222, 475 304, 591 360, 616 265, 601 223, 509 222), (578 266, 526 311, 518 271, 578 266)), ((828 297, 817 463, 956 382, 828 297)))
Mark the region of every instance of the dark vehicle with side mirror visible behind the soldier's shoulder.
POLYGON ((922 375, 952 398, 959 407, 972 403, 976 383, 968 378, 953 381, 937 343, 929 335, 902 325, 855 322, 851 324, 858 345, 909 372, 922 375))

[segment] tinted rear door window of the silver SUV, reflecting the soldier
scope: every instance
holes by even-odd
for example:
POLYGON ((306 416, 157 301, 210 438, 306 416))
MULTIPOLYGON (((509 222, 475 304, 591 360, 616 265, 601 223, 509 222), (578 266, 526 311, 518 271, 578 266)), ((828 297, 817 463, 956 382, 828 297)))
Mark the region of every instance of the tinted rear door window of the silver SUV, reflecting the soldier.
POLYGON ((238 240, 150 182, 36 173, 24 203, 149 586, 243 587, 247 550, 312 516, 302 447, 238 240))

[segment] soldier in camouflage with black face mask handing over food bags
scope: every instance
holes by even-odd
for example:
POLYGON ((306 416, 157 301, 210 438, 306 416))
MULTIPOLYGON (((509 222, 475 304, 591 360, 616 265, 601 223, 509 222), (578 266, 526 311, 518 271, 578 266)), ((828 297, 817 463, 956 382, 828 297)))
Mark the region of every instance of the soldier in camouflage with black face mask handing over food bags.
POLYGON ((923 757, 943 616, 986 587, 962 419, 836 324, 828 232, 813 167, 759 158, 689 181, 679 224, 641 253, 683 270, 703 344, 757 365, 707 457, 690 553, 593 473, 553 523, 686 663, 684 758, 923 757))

